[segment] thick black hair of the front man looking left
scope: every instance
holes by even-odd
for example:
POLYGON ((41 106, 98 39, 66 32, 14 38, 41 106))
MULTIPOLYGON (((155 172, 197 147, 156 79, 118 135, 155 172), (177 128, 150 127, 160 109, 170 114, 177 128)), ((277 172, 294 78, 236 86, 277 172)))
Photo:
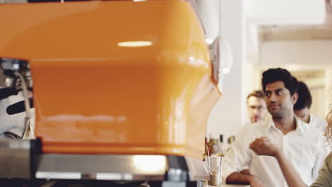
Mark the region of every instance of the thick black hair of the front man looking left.
POLYGON ((266 91, 266 85, 274 83, 275 81, 283 81, 286 89, 289 90, 291 96, 297 93, 298 82, 297 78, 293 77, 286 69, 271 68, 262 73, 262 88, 266 91))

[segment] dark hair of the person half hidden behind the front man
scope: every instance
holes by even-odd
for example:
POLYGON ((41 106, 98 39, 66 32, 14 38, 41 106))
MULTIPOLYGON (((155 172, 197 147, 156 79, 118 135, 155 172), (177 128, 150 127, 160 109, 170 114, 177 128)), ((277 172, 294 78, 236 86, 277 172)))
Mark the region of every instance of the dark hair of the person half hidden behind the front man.
POLYGON ((294 110, 301 110, 303 108, 310 108, 312 103, 312 97, 308 86, 302 81, 299 81, 299 98, 297 98, 297 103, 294 104, 294 110))

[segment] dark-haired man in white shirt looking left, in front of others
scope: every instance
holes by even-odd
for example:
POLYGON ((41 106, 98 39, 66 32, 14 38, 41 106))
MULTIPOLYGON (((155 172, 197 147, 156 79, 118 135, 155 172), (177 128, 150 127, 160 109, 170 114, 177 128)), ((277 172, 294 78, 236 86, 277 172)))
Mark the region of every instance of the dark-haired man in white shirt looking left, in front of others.
POLYGON ((255 187, 287 186, 277 159, 258 156, 250 149, 257 138, 269 137, 309 185, 316 179, 327 150, 323 147, 323 135, 307 128, 294 115, 297 79, 286 69, 268 69, 262 74, 262 87, 272 118, 247 125, 240 132, 223 159, 223 180, 255 187), (241 174, 246 165, 250 174, 241 174))

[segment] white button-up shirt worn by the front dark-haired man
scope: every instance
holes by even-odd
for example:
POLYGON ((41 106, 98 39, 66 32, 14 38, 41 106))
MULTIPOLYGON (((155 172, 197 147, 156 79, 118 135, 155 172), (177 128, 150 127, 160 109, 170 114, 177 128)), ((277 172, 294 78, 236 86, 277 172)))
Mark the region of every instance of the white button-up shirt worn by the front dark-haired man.
POLYGON ((275 127, 272 118, 246 125, 223 159, 223 181, 233 172, 239 172, 248 165, 250 174, 258 176, 265 186, 287 186, 277 159, 258 156, 249 148, 256 138, 269 137, 282 148, 284 156, 293 164, 304 183, 311 185, 318 176, 328 150, 323 145, 321 132, 308 128, 306 123, 297 119, 296 124, 296 130, 287 135, 275 127))

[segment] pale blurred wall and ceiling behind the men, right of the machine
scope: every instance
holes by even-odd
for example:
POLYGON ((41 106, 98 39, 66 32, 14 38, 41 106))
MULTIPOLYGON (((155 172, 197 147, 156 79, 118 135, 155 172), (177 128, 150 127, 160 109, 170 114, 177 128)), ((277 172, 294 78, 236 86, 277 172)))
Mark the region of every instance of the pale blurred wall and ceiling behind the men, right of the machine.
MULTIPOLYGON (((313 96, 311 113, 325 118, 332 103, 331 1, 206 1, 216 11, 218 35, 233 52, 231 69, 223 75, 223 96, 210 115, 206 137, 223 134, 225 139, 249 123, 246 96, 262 89, 262 72, 271 67, 288 69, 304 81, 313 96)), ((208 25, 207 33, 216 29, 216 24, 208 25)))

